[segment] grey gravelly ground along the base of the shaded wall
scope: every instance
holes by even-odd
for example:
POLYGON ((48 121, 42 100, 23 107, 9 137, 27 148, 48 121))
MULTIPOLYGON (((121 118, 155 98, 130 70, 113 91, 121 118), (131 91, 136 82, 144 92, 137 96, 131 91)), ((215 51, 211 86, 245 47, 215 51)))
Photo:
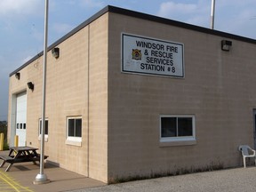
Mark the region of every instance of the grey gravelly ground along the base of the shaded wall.
MULTIPOLYGON (((255 192, 256 167, 199 172, 152 180, 138 180, 72 192, 255 192)), ((71 191, 70 191, 71 192, 71 191)))

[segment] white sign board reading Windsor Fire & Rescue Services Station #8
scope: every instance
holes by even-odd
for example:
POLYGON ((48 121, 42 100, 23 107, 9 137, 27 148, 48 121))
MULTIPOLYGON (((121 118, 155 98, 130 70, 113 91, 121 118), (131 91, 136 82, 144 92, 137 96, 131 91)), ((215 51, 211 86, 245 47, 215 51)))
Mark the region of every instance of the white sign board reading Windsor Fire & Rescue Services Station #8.
POLYGON ((122 72, 184 77, 184 45, 122 34, 122 72))

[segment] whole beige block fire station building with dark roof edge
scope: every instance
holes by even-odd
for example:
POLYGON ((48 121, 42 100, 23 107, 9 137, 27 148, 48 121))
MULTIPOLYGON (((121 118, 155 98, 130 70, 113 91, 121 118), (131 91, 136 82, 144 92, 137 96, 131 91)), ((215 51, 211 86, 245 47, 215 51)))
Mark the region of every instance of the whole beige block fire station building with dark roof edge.
MULTIPOLYGON (((107 6, 47 52, 47 161, 109 182, 242 164, 256 40, 107 6)), ((9 142, 40 148, 43 52, 10 74, 9 142)))

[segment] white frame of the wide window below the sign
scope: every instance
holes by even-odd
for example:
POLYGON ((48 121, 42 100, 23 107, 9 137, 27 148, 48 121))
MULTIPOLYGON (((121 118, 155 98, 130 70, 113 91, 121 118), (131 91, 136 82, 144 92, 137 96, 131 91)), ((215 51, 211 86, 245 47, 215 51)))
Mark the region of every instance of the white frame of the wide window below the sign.
MULTIPOLYGON (((179 125, 176 127, 179 130, 179 125)), ((196 116, 195 115, 160 115, 159 118, 159 131, 160 131, 160 142, 180 142, 180 144, 186 144, 186 141, 196 141, 196 116), (175 136, 175 137, 162 137, 162 118, 163 117, 175 117, 179 118, 192 118, 192 135, 191 136, 175 136), (183 142, 184 141, 184 142, 183 142)), ((189 142, 188 144, 196 144, 195 142, 189 142)))

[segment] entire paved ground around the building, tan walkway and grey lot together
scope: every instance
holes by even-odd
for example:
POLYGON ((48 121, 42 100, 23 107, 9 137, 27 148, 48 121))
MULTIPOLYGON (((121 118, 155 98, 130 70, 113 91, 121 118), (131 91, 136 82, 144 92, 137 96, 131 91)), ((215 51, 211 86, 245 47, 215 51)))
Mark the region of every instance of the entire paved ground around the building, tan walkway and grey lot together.
MULTIPOLYGON (((8 152, 8 151, 7 151, 8 152)), ((6 155, 0 151, 0 155, 6 155)), ((197 172, 152 180, 137 180, 106 185, 76 172, 44 164, 44 172, 50 183, 34 185, 39 172, 38 164, 13 164, 4 172, 7 164, 0 168, 0 191, 19 192, 255 192, 256 166, 224 169, 214 172, 197 172)))

